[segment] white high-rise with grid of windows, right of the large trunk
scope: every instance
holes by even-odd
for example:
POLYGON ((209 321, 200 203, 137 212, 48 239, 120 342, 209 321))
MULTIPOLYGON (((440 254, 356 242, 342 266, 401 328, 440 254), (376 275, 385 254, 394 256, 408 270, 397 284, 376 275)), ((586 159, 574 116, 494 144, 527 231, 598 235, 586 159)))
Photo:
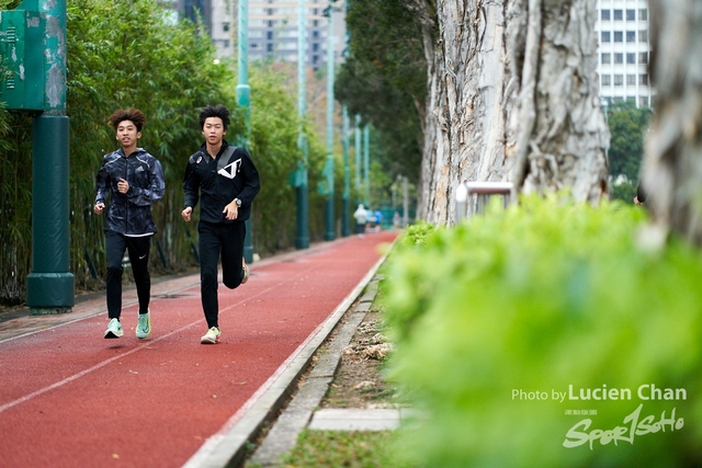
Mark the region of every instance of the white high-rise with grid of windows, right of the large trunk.
POLYGON ((648 1, 597 0, 600 98, 649 107, 655 94, 648 77, 648 1))

